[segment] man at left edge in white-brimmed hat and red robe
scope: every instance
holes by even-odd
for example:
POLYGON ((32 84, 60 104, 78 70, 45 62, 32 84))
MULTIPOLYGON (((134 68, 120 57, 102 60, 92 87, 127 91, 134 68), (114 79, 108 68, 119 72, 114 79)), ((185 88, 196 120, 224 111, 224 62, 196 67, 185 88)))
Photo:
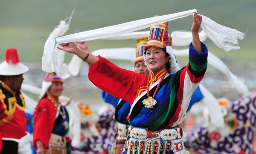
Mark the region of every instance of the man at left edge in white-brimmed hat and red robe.
POLYGON ((29 68, 19 61, 17 50, 6 50, 0 64, 0 153, 29 154, 30 135, 26 132, 25 100, 20 93, 22 75, 29 68))

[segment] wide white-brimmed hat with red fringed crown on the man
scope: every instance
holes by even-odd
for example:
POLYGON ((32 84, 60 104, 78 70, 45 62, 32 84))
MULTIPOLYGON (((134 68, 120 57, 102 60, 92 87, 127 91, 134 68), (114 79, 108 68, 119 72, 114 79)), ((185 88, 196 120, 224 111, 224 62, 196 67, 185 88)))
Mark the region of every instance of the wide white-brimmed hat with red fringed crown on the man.
POLYGON ((20 63, 17 49, 9 48, 6 50, 6 60, 0 64, 0 75, 12 76, 20 75, 29 71, 29 68, 20 63))

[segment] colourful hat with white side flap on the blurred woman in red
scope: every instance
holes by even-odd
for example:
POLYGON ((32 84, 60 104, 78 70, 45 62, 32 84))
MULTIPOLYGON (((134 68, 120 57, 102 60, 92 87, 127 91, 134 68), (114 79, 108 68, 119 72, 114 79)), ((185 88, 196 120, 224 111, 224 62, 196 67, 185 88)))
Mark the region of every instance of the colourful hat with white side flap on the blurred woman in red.
POLYGON ((42 83, 42 91, 39 96, 39 100, 41 100, 45 96, 47 90, 50 88, 50 86, 52 86, 52 82, 54 82, 54 81, 58 81, 61 83, 65 82, 60 77, 58 77, 58 75, 55 72, 46 73, 46 75, 44 77, 44 81, 42 83))

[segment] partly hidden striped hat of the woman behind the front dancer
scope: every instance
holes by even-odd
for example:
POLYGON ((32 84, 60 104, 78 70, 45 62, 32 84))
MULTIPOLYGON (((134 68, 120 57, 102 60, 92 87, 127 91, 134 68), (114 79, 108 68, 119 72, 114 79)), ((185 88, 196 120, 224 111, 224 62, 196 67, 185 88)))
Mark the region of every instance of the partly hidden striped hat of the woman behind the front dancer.
POLYGON ((138 37, 136 40, 136 57, 134 63, 143 61, 143 47, 147 45, 148 37, 138 37))

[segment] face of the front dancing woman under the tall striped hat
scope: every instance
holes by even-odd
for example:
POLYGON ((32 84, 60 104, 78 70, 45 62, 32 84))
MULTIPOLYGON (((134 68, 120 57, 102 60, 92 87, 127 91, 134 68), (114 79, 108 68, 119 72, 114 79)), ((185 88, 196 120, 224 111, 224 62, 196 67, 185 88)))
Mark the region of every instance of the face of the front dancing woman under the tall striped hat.
POLYGON ((148 68, 157 74, 166 68, 168 57, 161 48, 150 47, 146 51, 145 59, 148 68))

